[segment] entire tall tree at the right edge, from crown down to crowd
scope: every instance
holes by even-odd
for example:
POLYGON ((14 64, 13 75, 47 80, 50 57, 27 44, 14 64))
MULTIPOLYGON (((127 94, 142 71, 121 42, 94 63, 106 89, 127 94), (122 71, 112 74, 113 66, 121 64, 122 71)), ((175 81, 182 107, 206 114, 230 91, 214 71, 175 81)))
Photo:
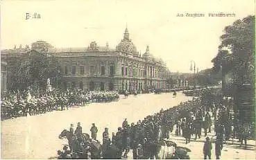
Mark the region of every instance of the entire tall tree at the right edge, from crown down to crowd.
POLYGON ((244 122, 245 117, 255 121, 255 16, 224 28, 212 62, 215 71, 222 68, 223 76, 231 74, 230 84, 225 85, 229 88, 223 88, 223 94, 234 98, 233 109, 239 114, 239 121, 244 122))

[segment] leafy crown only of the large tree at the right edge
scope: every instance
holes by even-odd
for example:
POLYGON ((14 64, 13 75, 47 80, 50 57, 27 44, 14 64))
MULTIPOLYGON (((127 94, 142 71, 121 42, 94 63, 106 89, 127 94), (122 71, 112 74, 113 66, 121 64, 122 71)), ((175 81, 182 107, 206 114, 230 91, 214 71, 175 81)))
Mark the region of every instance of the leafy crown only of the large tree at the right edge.
POLYGON ((255 71, 249 71, 255 66, 255 16, 239 19, 224 28, 219 52, 212 62, 216 71, 222 66, 224 73, 232 73, 235 86, 246 80, 255 84, 255 71), (229 48, 230 54, 223 48, 229 48))

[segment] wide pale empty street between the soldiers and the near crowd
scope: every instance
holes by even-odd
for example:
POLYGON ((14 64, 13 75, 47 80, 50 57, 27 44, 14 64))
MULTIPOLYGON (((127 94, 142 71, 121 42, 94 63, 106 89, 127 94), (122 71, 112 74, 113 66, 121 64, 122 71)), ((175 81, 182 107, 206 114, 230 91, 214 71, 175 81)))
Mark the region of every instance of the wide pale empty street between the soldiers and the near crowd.
POLYGON ((95 123, 99 130, 97 139, 102 141, 105 127, 111 135, 121 127, 124 118, 128 118, 128 123, 136 123, 161 108, 167 109, 190 99, 181 92, 176 98, 172 94, 130 95, 127 99, 121 96, 118 102, 92 103, 86 107, 1 121, 1 158, 49 159, 67 144, 67 140, 58 139, 58 135, 68 130, 71 123, 76 127, 80 122, 83 132, 89 134, 95 123))

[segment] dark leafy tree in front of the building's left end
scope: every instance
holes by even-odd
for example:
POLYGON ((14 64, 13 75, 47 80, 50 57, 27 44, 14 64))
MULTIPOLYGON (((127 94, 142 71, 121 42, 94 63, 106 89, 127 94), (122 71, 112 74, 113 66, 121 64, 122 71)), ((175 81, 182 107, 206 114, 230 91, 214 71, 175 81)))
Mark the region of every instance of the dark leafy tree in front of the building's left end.
MULTIPOLYGON (((16 68, 17 80, 12 89, 45 89, 48 78, 55 78, 60 65, 53 57, 48 57, 46 53, 30 51, 22 55, 20 64, 16 68)), ((58 76, 62 76, 61 74, 58 76)))

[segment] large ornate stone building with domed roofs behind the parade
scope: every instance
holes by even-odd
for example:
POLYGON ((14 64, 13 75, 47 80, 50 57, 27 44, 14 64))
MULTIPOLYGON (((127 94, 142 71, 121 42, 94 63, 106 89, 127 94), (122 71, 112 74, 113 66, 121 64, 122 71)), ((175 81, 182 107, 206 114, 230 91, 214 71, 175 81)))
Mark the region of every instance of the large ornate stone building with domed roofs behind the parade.
MULTIPOLYGON (((17 59, 13 57, 27 48, 3 51, 1 57, 6 56, 9 57, 6 60, 13 61, 17 59)), ((167 87, 166 64, 153 57, 149 46, 146 46, 144 54, 137 52, 127 28, 115 49, 110 48, 108 43, 106 46, 97 46, 96 42, 91 42, 86 48, 53 48, 46 42, 37 41, 29 50, 47 53, 58 60, 63 75, 58 80, 58 87, 63 89, 133 91, 167 87)), ((52 79, 52 82, 56 80, 52 79)))

